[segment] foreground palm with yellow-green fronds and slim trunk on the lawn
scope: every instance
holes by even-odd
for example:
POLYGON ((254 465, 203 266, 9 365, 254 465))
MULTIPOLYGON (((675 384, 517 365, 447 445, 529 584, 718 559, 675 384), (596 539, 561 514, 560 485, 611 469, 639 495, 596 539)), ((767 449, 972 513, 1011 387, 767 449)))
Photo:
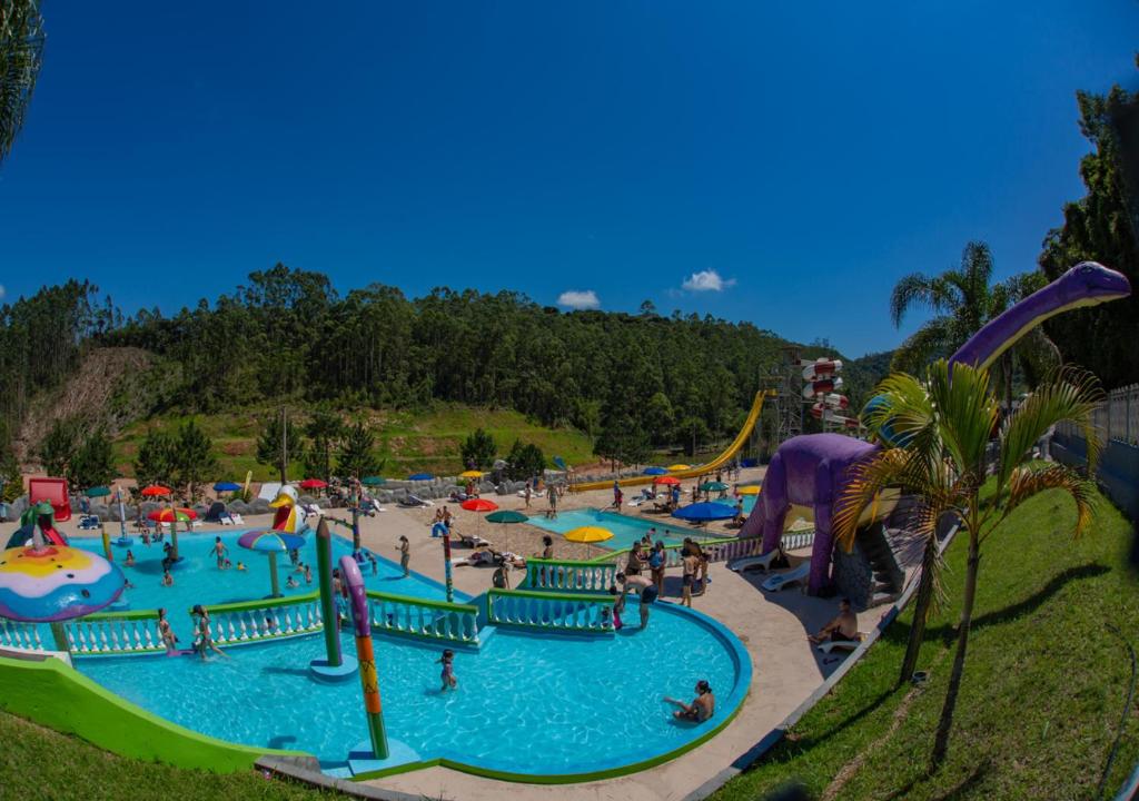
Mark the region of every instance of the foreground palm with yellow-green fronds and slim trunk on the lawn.
MULTIPOLYGON (((1093 376, 1071 368, 1043 381, 1001 425, 993 469, 995 487, 992 496, 982 500, 981 488, 990 466, 986 453, 999 419, 999 404, 990 390, 988 371, 960 363, 950 366, 942 359, 929 367, 925 382, 894 374, 879 384, 878 391, 885 402, 871 409, 869 425, 880 428, 888 423, 909 440, 903 447, 879 451, 851 471, 835 516, 838 540, 847 548, 851 546, 860 514, 886 487, 901 487, 919 497, 918 528, 927 542, 943 514, 956 514, 961 532, 969 538, 957 651, 932 754, 936 768, 949 747, 953 710, 965 672, 981 546, 1016 507, 1049 489, 1064 490, 1075 501, 1075 536, 1088 526, 1095 483, 1063 465, 1033 465, 1030 458, 1036 440, 1051 426, 1071 420, 1083 430, 1088 465, 1092 469, 1099 439, 1091 415, 1103 392, 1093 376)), ((934 573, 931 571, 929 587, 934 586, 934 573)))

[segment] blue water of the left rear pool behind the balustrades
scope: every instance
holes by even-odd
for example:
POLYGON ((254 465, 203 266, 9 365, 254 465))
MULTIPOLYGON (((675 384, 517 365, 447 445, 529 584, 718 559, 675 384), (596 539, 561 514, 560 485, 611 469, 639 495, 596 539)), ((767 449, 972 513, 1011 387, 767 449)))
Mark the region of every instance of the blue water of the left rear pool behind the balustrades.
MULTIPOLYGON (((170 622, 174 627, 175 634, 188 643, 191 628, 190 618, 186 614, 195 604, 229 604, 239 600, 255 600, 264 598, 271 589, 269 577, 269 558, 263 554, 246 550, 237 545, 238 538, 245 533, 239 531, 208 531, 203 533, 178 534, 178 553, 182 561, 173 570, 173 587, 163 587, 162 580, 162 557, 161 543, 142 545, 142 540, 136 538, 130 550, 134 554, 136 564, 128 567, 123 564, 126 558, 126 548, 112 546, 115 563, 122 569, 128 581, 134 585, 133 589, 123 592, 123 598, 130 604, 131 610, 154 610, 164 606, 170 614, 170 622), (212 548, 214 537, 221 537, 222 542, 229 548, 229 558, 233 567, 229 570, 218 570, 216 559, 212 548), (246 570, 238 571, 237 563, 243 562, 246 570)), ((167 534, 169 539, 170 536, 167 534)), ((114 540, 112 540, 114 542, 114 540)), ((72 545, 103 553, 103 540, 90 538, 73 538, 72 545)), ((338 562, 341 556, 352 553, 352 542, 342 537, 333 537, 333 559, 338 562)), ((395 551, 395 543, 392 543, 392 553, 395 551)), ((364 564, 361 572, 364 583, 369 589, 383 590, 386 592, 398 592, 399 595, 410 595, 417 598, 444 597, 443 588, 429 579, 412 573, 404 579, 403 571, 394 562, 377 554, 378 573, 372 575, 371 566, 364 564)), ((301 548, 301 562, 311 564, 313 567, 312 585, 304 583, 304 577, 293 573, 293 565, 286 554, 277 557, 277 572, 280 579, 279 586, 284 595, 304 595, 318 588, 317 569, 317 545, 313 536, 305 537, 304 547, 301 548), (289 575, 295 575, 300 587, 289 589, 285 586, 289 575)))

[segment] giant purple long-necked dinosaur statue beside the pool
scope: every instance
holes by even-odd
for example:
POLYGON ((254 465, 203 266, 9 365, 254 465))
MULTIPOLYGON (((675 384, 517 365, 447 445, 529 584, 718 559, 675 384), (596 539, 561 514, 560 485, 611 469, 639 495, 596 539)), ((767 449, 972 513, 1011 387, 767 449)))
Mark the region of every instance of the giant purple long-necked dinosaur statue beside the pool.
MULTIPOLYGON (((1128 279, 1096 262, 1081 262, 1055 281, 998 316, 950 357, 950 363, 989 367, 1022 336, 1055 314, 1097 305, 1131 294, 1128 279)), ((816 595, 830 583, 835 546, 831 516, 846 474, 879 446, 843 434, 793 436, 776 451, 763 479, 763 493, 744 523, 740 537, 763 533, 763 553, 778 547, 792 504, 814 510, 814 546, 808 590, 816 595)))

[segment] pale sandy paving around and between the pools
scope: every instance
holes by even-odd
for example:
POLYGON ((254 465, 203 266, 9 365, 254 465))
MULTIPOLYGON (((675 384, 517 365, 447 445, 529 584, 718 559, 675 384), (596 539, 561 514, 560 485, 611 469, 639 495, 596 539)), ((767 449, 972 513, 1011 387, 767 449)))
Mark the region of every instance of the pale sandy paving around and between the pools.
MULTIPOLYGON (((743 482, 762 477, 762 469, 745 471, 743 482)), ((686 482, 686 489, 691 482, 686 482)), ((501 508, 527 512, 522 498, 490 497, 501 508)), ((686 499, 687 501, 687 499, 686 499)), ((604 508, 612 502, 612 491, 581 495, 567 493, 559 509, 604 508)), ((436 501, 437 506, 441 505, 436 501)), ((388 558, 398 558, 396 547, 401 534, 411 543, 411 569, 436 580, 443 579, 443 549, 439 538, 431 537, 431 523, 436 507, 403 509, 395 505, 372 517, 362 518, 361 538, 366 547, 388 558)), ((530 556, 541 550, 540 529, 518 524, 503 531, 483 520, 482 514, 466 512, 457 504, 448 504, 456 515, 459 532, 477 533, 497 548, 530 556)), ((528 512, 544 508, 544 500, 533 500, 528 512)), ((626 513, 638 514, 634 509, 626 513)), ((343 514, 331 510, 329 514, 343 514)), ((251 526, 269 523, 268 515, 247 516, 251 526)), ((66 533, 76 532, 74 520, 62 524, 66 533)), ((710 528, 710 533, 728 532, 722 525, 710 528)), ((465 553, 456 548, 456 556, 465 553)), ((584 546, 555 538, 558 558, 579 558, 585 555, 584 546)), ((596 546, 591 554, 597 555, 596 546)), ((802 555, 801 555, 802 556, 802 555)), ((477 595, 491 585, 490 569, 457 567, 454 586, 460 591, 477 595)), ((521 574, 519 574, 521 575, 521 574)), ((554 798, 563 801, 621 799, 648 801, 649 799, 681 799, 699 787, 718 771, 731 765, 764 734, 777 726, 798 706, 841 663, 842 657, 827 657, 814 651, 806 635, 820 628, 836 613, 834 600, 812 598, 796 590, 767 595, 759 589, 762 573, 745 577, 729 571, 723 564, 710 570, 712 586, 704 596, 695 598, 694 606, 730 628, 746 645, 753 661, 749 695, 736 719, 719 735, 699 747, 665 765, 631 776, 571 785, 543 786, 498 782, 470 776, 448 768, 428 768, 400 776, 370 782, 379 787, 419 793, 432 799, 462 801, 500 800, 503 798, 554 798)), ((670 573, 665 598, 679 596, 679 575, 670 573)), ((871 610, 859 616, 859 628, 872 628, 885 607, 871 610)))

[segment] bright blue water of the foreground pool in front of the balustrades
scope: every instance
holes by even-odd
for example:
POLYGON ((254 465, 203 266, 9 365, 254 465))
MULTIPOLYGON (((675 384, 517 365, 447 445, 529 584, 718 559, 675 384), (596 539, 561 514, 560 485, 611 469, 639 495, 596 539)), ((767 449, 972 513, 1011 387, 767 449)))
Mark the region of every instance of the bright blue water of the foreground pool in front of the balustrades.
MULTIPOLYGON (((262 579, 264 577, 261 577, 262 579)), ((480 651, 459 651, 456 692, 440 693, 441 647, 376 638, 388 736, 421 760, 523 775, 632 765, 678 749, 718 726, 744 700, 751 663, 719 624, 657 604, 646 630, 571 637, 499 629, 480 651), (716 693, 715 717, 673 721, 664 695, 690 701, 698 679, 716 693)), ((485 636, 485 631, 484 631, 485 636)), ((345 653, 352 638, 342 635, 345 653)), ((76 667, 123 697, 177 724, 227 741, 297 749, 337 770, 367 739, 357 680, 313 683, 309 636, 233 647, 230 659, 92 657, 76 667)))

